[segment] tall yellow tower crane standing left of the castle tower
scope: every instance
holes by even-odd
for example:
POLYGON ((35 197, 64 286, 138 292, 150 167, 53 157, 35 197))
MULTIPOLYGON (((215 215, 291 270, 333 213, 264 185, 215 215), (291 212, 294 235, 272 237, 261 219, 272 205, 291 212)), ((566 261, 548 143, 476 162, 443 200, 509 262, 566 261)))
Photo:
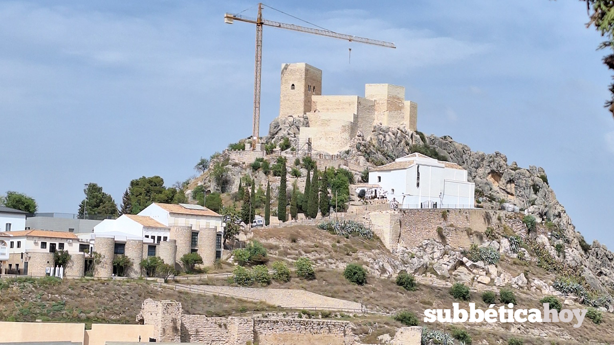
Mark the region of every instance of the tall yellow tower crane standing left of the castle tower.
MULTIPOLYGON (((224 23, 232 24, 233 21, 244 21, 245 23, 252 23, 256 25, 256 62, 255 62, 255 73, 254 73, 254 118, 252 119, 252 150, 255 149, 256 144, 258 142, 259 131, 260 131, 260 71, 262 69, 262 26, 273 26, 273 28, 281 28, 288 29, 293 31, 300 31, 301 33, 308 33, 326 37, 333 37, 337 39, 343 39, 344 41, 349 42, 358 42, 364 44, 372 44, 379 45, 381 47, 386 48, 396 48, 394 43, 377 41, 375 39, 368 39, 364 37, 357 37, 352 35, 335 33, 334 31, 326 30, 326 29, 314 29, 307 28, 305 26, 298 26, 293 24, 279 23, 278 21, 265 20, 262 18, 262 3, 258 4, 258 17, 249 18, 244 17, 239 14, 225 14, 224 15, 224 23)), ((273 7, 269 7, 273 9, 273 7)), ((281 12, 281 11, 279 11, 281 12)), ((283 13, 283 12, 282 12, 283 13)))

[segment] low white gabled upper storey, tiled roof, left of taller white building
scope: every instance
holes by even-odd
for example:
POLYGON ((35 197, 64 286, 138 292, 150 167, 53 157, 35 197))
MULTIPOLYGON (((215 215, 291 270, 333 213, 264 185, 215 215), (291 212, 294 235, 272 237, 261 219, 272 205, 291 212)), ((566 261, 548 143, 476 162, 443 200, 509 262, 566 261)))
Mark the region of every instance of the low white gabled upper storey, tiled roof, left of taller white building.
MULTIPOLYGON (((144 215, 123 214, 117 219, 105 219, 94 227, 94 235, 117 235, 149 238, 153 242, 167 241, 171 228, 144 215)), ((80 238, 87 235, 79 235, 80 238)), ((95 236, 92 236, 94 238, 95 236)))

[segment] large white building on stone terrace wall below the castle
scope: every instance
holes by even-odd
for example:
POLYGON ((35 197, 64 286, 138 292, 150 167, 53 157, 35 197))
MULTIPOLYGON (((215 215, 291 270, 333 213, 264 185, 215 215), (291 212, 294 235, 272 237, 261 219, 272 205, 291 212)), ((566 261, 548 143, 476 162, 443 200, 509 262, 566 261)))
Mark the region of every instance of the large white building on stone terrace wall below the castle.
POLYGON ((401 208, 473 208, 475 184, 456 163, 420 153, 397 158, 369 171, 370 185, 379 185, 401 208))

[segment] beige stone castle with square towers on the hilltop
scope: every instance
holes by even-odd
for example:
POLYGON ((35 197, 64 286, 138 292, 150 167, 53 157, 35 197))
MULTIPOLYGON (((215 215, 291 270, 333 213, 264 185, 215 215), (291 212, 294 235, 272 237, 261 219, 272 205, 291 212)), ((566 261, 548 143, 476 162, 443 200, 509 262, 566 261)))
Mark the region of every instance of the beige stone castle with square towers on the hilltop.
POLYGON ((367 84, 365 96, 323 96, 322 70, 306 63, 283 64, 279 117, 309 118, 301 127, 298 150, 335 154, 348 148, 373 125, 415 131, 418 104, 405 100, 405 88, 391 84, 367 84))

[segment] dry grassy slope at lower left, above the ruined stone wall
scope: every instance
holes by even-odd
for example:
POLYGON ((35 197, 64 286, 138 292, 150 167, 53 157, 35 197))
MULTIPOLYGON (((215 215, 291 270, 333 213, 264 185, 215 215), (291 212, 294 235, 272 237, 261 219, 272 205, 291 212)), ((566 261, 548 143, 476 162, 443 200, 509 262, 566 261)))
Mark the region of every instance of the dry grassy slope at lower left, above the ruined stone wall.
POLYGON ((138 281, 7 279, 0 284, 0 320, 133 322, 146 298, 176 300, 187 314, 220 316, 262 304, 159 289, 138 281))

